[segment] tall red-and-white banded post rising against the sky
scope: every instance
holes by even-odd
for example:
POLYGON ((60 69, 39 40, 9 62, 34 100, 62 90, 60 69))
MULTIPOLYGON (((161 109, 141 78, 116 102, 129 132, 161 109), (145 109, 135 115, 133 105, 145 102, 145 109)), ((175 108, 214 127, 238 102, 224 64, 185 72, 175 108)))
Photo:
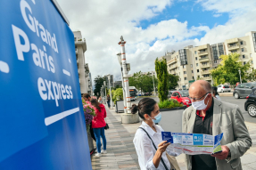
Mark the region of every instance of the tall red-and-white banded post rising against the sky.
POLYGON ((123 79, 124 79, 124 86, 125 86, 125 93, 127 98, 127 111, 131 113, 131 103, 130 103, 130 94, 129 94, 129 85, 128 85, 128 69, 127 69, 127 62, 126 62, 126 53, 125 53, 125 44, 126 42, 123 39, 123 36, 120 37, 119 45, 121 46, 121 59, 122 59, 122 69, 123 69, 123 79))

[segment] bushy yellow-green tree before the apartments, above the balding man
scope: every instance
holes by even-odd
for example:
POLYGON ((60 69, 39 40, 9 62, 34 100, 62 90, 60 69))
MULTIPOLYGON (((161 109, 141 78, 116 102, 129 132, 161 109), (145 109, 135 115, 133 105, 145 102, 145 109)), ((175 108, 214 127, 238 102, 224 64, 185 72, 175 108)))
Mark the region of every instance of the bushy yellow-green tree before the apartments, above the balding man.
POLYGON ((240 82, 239 72, 241 70, 241 79, 243 82, 246 81, 247 70, 250 69, 250 61, 246 64, 242 64, 239 61, 239 53, 230 53, 228 55, 221 55, 219 66, 216 69, 211 70, 211 76, 214 79, 215 85, 220 85, 224 83, 230 83, 230 85, 235 85, 236 82, 240 82))

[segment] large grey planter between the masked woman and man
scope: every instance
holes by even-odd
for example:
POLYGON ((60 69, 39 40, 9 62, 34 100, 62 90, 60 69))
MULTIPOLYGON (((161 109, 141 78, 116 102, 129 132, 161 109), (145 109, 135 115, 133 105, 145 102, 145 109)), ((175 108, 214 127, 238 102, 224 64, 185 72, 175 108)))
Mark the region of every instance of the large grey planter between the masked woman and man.
POLYGON ((160 109, 161 111, 161 128, 166 132, 181 133, 182 132, 182 114, 186 106, 160 109))

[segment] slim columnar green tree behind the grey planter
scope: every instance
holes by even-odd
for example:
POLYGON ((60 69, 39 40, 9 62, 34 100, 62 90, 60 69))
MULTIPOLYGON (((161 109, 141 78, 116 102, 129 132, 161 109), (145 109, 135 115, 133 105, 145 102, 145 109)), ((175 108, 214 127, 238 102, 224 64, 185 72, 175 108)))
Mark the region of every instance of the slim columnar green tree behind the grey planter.
POLYGON ((167 100, 168 97, 168 72, 167 72, 167 63, 166 60, 158 60, 158 58, 154 61, 155 71, 158 79, 158 97, 160 101, 167 100))

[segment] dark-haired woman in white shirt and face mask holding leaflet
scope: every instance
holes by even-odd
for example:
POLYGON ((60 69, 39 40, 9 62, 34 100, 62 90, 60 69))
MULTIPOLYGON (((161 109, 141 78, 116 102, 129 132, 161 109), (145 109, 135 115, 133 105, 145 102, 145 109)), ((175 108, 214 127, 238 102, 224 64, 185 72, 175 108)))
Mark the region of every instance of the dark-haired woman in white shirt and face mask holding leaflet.
POLYGON ((169 164, 166 152, 175 157, 179 154, 168 149, 170 143, 162 141, 161 138, 163 129, 160 125, 155 125, 161 120, 161 113, 157 102, 150 98, 144 98, 139 101, 137 106, 136 104, 132 105, 131 112, 135 114, 137 111, 139 117, 143 119, 143 122, 136 130, 133 142, 136 148, 140 168, 142 170, 173 169, 169 164), (155 150, 153 143, 157 150, 155 150))

